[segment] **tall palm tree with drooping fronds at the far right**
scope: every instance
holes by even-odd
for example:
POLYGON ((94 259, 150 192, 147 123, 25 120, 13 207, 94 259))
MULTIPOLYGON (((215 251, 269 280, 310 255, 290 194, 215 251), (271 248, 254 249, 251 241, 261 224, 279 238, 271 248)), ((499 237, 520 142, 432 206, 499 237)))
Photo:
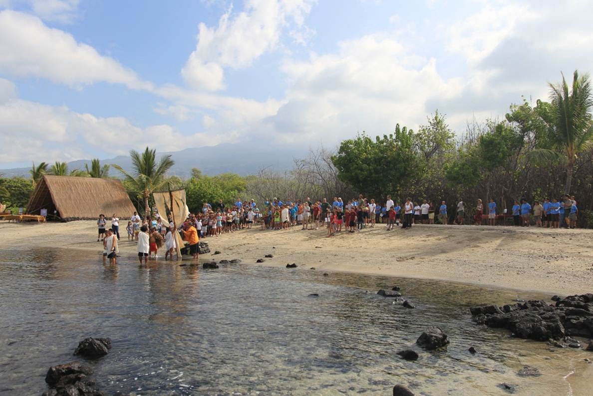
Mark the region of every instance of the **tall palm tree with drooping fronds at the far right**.
POLYGON ((591 81, 588 74, 579 76, 578 70, 575 70, 572 87, 569 88, 564 75, 562 82, 549 85, 553 116, 549 130, 553 150, 533 150, 533 154, 566 163, 564 189, 566 194, 570 194, 578 153, 591 146, 593 137, 591 81))

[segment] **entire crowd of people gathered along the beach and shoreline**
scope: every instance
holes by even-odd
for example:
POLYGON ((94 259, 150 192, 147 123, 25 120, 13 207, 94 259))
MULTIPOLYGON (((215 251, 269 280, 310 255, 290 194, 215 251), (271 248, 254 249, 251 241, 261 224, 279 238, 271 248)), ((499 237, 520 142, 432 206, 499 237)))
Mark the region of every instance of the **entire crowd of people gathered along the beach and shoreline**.
MULTIPOLYGON (((362 194, 358 198, 344 202, 340 197, 334 197, 333 202, 327 198, 318 201, 270 198, 264 202, 262 208, 251 199, 249 201, 237 199, 231 205, 225 205, 220 199, 214 204, 204 202, 199 213, 190 214, 183 224, 178 224, 178 231, 189 246, 190 255, 195 259, 199 255, 199 240, 205 237, 218 237, 221 234, 234 233, 243 229, 259 227, 260 230, 283 230, 289 227, 300 227, 301 230, 318 230, 327 228, 327 237, 345 231, 356 233, 363 228, 374 228, 377 224, 385 226, 391 231, 394 227, 409 229, 413 224, 466 224, 469 214, 473 213, 473 224, 480 225, 487 220, 490 226, 506 225, 512 219, 514 226, 530 227, 533 223, 537 227, 575 228, 578 208, 575 197, 566 194, 561 199, 544 199, 543 202, 534 201, 531 205, 527 200, 514 202, 511 211, 506 208, 500 210, 495 199, 490 199, 486 207, 482 199, 478 199, 475 207, 468 210, 466 202, 458 199, 457 204, 447 205, 446 201, 435 204, 433 201, 422 199, 413 201, 394 201, 387 195, 381 204, 375 199, 365 198, 362 194)), ((165 246, 165 260, 173 259, 176 250, 176 240, 172 227, 165 227, 158 211, 153 210, 154 216, 141 217, 133 213, 127 222, 127 240, 136 242, 140 263, 148 259, 157 259, 158 250, 165 246)), ((469 215, 469 217, 472 217, 469 215)), ((167 215, 167 224, 173 224, 173 219, 167 215)), ((97 220, 98 237, 104 246, 104 259, 115 263, 119 251, 117 241, 119 236, 119 217, 113 214, 111 228, 107 229, 107 219, 101 214, 97 220)))

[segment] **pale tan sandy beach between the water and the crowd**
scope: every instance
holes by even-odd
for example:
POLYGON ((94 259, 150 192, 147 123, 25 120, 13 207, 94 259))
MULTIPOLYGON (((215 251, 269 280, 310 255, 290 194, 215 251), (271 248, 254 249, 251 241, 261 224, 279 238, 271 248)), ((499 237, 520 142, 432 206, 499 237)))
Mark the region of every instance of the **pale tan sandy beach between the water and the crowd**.
MULTIPOLYGON (((121 236, 119 264, 135 264, 131 256, 136 252, 135 242, 127 241, 125 231, 121 236)), ((202 255, 200 261, 238 258, 255 264, 272 254, 263 265, 297 263, 307 270, 438 279, 559 295, 593 289, 593 230, 418 225, 411 230, 386 231, 377 225, 356 234, 326 236, 324 229, 303 231, 300 227, 242 230, 204 239, 212 252, 222 254, 202 255)), ((0 246, 70 247, 97 255, 102 250, 96 242, 94 221, 2 221, 0 246)))

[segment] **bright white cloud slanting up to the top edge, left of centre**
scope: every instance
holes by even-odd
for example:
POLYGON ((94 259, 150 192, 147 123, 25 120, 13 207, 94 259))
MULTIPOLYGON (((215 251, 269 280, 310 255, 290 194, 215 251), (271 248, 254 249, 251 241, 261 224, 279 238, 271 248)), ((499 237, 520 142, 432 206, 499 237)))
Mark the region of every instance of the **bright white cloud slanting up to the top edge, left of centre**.
MULTIPOLYGON (((278 45, 282 28, 303 27, 311 4, 311 0, 247 0, 244 10, 236 15, 229 8, 217 27, 200 23, 196 50, 190 54, 181 75, 196 89, 224 89, 225 67, 251 66, 255 59, 278 45)), ((297 28, 290 36, 304 43, 311 30, 297 28)))

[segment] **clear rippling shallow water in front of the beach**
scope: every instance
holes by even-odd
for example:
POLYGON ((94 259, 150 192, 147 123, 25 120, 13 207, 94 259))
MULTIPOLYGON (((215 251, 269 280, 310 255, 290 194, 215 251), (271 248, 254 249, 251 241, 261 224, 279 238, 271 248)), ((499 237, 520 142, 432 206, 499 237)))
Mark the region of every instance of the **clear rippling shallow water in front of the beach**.
POLYGON ((114 268, 65 249, 1 253, 0 394, 40 394, 47 368, 73 360, 87 336, 113 340, 91 363, 106 394, 389 395, 399 383, 423 395, 501 395, 496 385, 508 382, 519 395, 566 395, 564 376, 591 375, 591 353, 549 352, 471 323, 470 305, 538 295, 248 265, 139 268, 133 256, 114 268), (375 295, 393 285, 417 309, 375 295), (446 351, 396 355, 431 324, 448 333, 446 351), (544 375, 517 376, 525 364, 544 375))

